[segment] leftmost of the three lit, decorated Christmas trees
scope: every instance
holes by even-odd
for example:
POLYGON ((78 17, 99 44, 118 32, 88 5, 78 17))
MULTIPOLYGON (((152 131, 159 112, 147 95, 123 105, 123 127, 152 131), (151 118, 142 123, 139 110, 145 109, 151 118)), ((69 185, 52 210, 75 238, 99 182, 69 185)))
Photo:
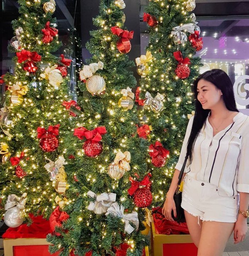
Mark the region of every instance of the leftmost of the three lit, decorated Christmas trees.
POLYGON ((18 3, 20 17, 12 22, 15 36, 9 47, 15 73, 1 80, 6 92, 0 119, 0 211, 11 227, 28 214, 48 218, 57 206, 56 196, 66 189, 63 165, 73 148, 69 108, 76 106, 68 97, 71 60, 51 54, 61 46, 52 18, 55 2, 18 3))

